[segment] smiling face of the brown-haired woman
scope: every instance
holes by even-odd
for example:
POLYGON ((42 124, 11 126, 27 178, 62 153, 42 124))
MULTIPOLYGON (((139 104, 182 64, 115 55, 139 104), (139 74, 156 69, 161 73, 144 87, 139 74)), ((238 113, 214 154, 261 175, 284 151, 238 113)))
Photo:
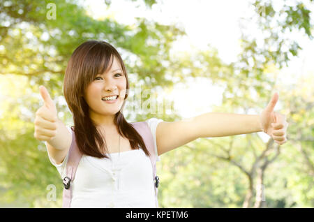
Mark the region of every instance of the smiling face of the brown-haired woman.
POLYGON ((101 121, 107 115, 114 115, 121 109, 126 96, 126 75, 119 60, 114 57, 110 71, 98 73, 84 92, 84 99, 89 105, 91 119, 101 121), (106 96, 119 95, 114 101, 105 101, 106 96))

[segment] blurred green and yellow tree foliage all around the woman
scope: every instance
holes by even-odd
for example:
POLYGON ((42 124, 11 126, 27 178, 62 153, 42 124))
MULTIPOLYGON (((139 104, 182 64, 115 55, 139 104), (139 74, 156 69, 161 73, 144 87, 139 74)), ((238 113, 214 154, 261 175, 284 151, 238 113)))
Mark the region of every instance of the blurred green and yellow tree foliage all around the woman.
MULTIPOLYGON (((0 24, 0 207, 61 207, 61 179, 43 142, 33 138, 33 119, 42 105, 38 86, 43 84, 57 103, 59 118, 72 124, 62 96, 63 73, 71 53, 84 40, 107 40, 118 48, 133 78, 131 89, 140 84, 143 91, 156 89, 158 96, 158 90, 171 91, 190 77, 206 77, 225 87, 223 104, 214 112, 246 112, 264 108, 274 87, 273 73, 299 54, 301 47, 290 31, 313 38, 311 11, 304 3, 287 6, 282 1, 278 10, 272 1, 254 1, 257 27, 268 35, 259 44, 246 30, 237 63, 223 63, 210 46, 170 57, 172 43, 185 34, 178 27, 140 17, 133 26, 112 18, 94 20, 77 2, 66 0, 54 1, 57 20, 48 20, 49 2, 0 3, 0 15, 6 20, 0 24), (56 201, 47 200, 50 185, 56 187, 56 201)), ((105 3, 110 6, 111 1, 105 3)), ((156 0, 144 3, 151 8, 156 0)), ((307 78, 280 93, 290 123, 289 142, 265 170, 265 207, 314 206, 313 84, 313 78, 307 78)), ((175 111, 141 114, 128 108, 126 119, 181 119, 175 111)), ((157 165, 160 207, 242 207, 249 189, 246 172, 255 172, 255 183, 253 165, 269 145, 257 134, 201 138, 164 154, 157 165)), ((275 148, 262 161, 276 156, 275 148)), ((253 190, 252 202, 255 194, 253 190)))

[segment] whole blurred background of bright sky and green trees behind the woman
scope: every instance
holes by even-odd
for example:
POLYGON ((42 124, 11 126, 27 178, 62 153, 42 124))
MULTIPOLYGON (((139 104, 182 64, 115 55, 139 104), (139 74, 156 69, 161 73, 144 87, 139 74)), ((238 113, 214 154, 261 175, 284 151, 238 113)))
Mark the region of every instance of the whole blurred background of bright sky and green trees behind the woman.
POLYGON ((133 112, 141 101, 127 101, 129 122, 260 114, 279 94, 284 145, 251 133, 163 154, 160 207, 314 207, 313 11, 312 0, 0 0, 0 207, 61 207, 59 173, 33 138, 38 87, 72 126, 63 77, 89 39, 117 48, 131 96, 149 89, 161 104, 133 112))

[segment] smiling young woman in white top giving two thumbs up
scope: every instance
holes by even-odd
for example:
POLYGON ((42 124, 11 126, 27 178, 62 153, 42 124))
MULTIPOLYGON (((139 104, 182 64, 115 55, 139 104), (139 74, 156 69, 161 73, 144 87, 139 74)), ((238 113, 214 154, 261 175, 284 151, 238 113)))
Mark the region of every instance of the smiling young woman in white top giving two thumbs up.
MULTIPOLYGON (((64 77, 63 92, 74 127, 57 118, 57 109, 45 87, 44 105, 36 112, 34 137, 46 141, 50 161, 64 177, 71 130, 83 154, 73 180, 70 207, 156 207, 149 151, 142 136, 124 118, 129 82, 124 61, 109 43, 88 40, 73 52, 64 77)), ((264 131, 282 145, 285 116, 274 112, 278 94, 260 115, 206 113, 147 124, 157 156, 197 138, 264 131)))

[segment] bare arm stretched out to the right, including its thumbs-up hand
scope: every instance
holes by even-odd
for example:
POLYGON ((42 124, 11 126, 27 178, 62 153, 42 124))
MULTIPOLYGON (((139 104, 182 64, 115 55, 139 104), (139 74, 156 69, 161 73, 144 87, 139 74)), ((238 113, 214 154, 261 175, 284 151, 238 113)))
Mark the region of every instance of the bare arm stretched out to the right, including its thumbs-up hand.
POLYGON ((264 131, 283 145, 287 141, 287 121, 274 112, 278 94, 274 94, 262 114, 230 114, 209 112, 174 122, 160 122, 156 128, 158 155, 181 147, 197 138, 222 137, 264 131))

